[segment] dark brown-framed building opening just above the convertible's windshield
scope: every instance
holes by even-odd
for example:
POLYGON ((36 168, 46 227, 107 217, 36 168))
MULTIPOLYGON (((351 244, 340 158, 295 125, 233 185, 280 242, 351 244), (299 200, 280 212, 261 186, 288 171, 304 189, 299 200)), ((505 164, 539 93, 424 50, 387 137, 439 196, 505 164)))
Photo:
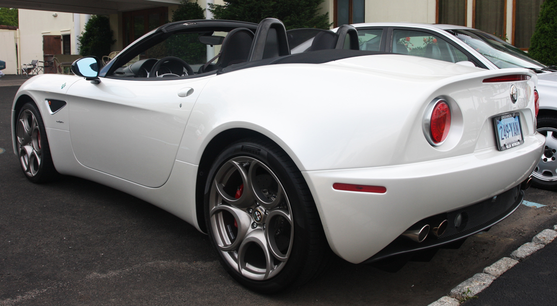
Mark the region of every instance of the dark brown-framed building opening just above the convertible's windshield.
POLYGON ((124 22, 124 47, 143 34, 168 23, 168 7, 141 9, 122 13, 124 22))

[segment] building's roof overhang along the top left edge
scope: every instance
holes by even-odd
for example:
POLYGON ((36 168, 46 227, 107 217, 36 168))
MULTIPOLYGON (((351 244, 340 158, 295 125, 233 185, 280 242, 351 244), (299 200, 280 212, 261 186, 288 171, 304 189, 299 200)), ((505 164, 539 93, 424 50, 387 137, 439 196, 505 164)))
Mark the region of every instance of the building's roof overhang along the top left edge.
POLYGON ((0 0, 0 7, 97 15, 176 4, 180 0, 0 0))

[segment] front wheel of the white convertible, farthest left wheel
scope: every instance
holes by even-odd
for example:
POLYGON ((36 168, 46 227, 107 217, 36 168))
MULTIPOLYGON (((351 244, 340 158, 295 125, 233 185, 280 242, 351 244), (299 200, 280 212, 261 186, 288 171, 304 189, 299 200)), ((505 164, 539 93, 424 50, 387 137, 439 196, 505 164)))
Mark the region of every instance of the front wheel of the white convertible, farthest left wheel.
POLYGON ((56 169, 50 156, 45 125, 37 106, 28 102, 19 111, 16 122, 16 144, 19 164, 32 182, 55 179, 56 169))

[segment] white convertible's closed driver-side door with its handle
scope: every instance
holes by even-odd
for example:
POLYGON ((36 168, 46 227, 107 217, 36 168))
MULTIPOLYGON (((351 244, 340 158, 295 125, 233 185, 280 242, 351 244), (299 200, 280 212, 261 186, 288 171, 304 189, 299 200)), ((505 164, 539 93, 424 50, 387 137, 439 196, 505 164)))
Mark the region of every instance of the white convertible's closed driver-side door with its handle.
POLYGON ((168 179, 190 111, 208 78, 80 80, 68 91, 71 140, 79 162, 159 187, 168 179), (192 95, 179 97, 184 85, 192 95))

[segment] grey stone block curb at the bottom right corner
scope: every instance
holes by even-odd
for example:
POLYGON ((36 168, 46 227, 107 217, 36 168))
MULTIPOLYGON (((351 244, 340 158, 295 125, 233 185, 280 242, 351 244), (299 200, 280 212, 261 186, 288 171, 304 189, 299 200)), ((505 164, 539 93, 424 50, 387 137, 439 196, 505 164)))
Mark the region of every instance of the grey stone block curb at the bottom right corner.
POLYGON ((487 266, 483 269, 483 273, 477 273, 473 277, 465 280, 460 285, 457 285, 451 292, 429 304, 428 306, 456 306, 460 305, 461 301, 465 302, 467 299, 474 297, 476 294, 482 292, 483 289, 489 287, 491 283, 507 272, 510 268, 515 266, 519 261, 522 261, 528 256, 534 254, 537 250, 543 248, 546 244, 557 238, 557 225, 553 226, 553 230, 545 229, 538 235, 532 238, 532 242, 521 245, 518 249, 512 251, 510 258, 504 257, 497 260, 494 264, 487 266))

